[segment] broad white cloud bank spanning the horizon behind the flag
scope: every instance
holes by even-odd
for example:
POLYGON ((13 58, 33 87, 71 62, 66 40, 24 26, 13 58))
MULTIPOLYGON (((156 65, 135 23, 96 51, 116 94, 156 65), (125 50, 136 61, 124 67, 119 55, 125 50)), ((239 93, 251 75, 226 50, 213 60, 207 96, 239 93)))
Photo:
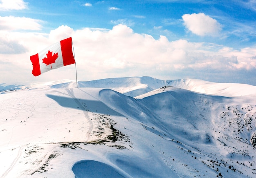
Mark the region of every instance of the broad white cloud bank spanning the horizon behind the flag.
MULTIPOLYGON (((10 69, 4 73, 4 76, 9 77, 0 75, 0 82, 75 80, 74 65, 35 78, 31 74, 32 65, 29 60, 29 56, 70 36, 74 44, 78 80, 151 76, 163 80, 199 78, 216 82, 246 82, 245 73, 255 76, 256 49, 252 47, 234 50, 202 42, 169 41, 165 36, 154 39, 147 34, 135 33, 123 24, 112 29, 79 30, 62 25, 49 34, 0 33, 0 39, 4 39, 2 44, 9 41, 11 45, 15 41, 26 49, 20 54, 10 54, 11 50, 8 55, 0 53, 0 62, 10 69), (11 65, 20 70, 13 71, 11 65), (236 75, 236 78, 232 78, 231 74, 236 75), (16 77, 12 79, 14 75, 16 77)), ((18 48, 16 46, 15 50, 18 48)), ((250 78, 248 81, 253 80, 250 78)))

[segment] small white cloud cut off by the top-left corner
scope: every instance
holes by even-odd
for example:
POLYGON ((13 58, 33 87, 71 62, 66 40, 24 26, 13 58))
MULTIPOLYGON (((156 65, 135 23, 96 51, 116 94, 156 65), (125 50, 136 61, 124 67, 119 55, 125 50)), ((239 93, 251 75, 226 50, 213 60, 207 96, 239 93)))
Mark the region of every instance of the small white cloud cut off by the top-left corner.
POLYGON ((23 0, 0 0, 0 10, 27 9, 27 3, 23 0))

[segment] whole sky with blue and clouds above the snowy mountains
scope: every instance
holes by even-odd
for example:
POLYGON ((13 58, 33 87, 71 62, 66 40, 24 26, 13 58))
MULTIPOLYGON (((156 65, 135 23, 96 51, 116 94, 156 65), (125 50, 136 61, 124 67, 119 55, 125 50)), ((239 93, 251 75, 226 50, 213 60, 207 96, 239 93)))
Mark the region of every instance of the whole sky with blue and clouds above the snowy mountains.
POLYGON ((256 85, 255 0, 0 0, 0 83, 74 80, 74 66, 35 78, 29 63, 70 36, 79 80, 256 85))

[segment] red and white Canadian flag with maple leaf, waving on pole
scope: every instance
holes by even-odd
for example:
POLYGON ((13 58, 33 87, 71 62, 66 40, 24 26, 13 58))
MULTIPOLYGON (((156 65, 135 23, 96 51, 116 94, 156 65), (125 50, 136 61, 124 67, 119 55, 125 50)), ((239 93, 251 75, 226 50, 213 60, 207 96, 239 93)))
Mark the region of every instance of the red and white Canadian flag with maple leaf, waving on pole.
POLYGON ((72 52, 72 38, 52 44, 43 51, 30 56, 30 60, 33 65, 32 74, 34 76, 76 63, 72 52))

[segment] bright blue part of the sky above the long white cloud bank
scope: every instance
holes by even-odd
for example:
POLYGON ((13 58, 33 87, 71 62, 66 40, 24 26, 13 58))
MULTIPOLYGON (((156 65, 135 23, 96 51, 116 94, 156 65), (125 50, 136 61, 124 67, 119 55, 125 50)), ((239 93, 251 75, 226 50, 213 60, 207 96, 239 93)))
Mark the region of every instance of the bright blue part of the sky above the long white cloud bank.
POLYGON ((73 29, 84 27, 112 29, 125 24, 136 33, 159 35, 169 40, 216 42, 230 47, 247 47, 256 40, 256 2, 179 1, 179 0, 27 0, 27 9, 5 11, 5 16, 24 16, 43 20, 42 31, 49 33, 61 25, 73 29), (184 14, 204 13, 221 25, 218 38, 198 36, 184 28, 184 14))

